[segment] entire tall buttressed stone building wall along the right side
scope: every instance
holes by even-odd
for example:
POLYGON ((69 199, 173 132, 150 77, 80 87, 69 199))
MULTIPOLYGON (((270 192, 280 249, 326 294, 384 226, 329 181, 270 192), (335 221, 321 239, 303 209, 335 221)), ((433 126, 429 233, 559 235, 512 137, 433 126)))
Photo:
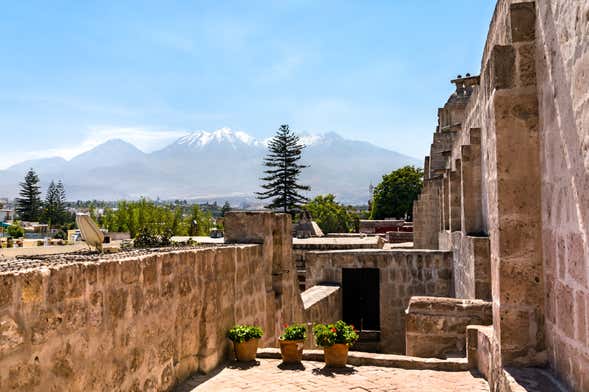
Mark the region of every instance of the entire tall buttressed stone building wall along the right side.
POLYGON ((457 88, 438 111, 425 181, 441 183, 441 200, 424 187, 415 244, 436 245, 426 222, 441 209, 457 295, 488 297, 490 272, 492 379, 549 363, 589 390, 588 52, 588 0, 499 0, 480 80, 452 80, 471 94, 457 88))

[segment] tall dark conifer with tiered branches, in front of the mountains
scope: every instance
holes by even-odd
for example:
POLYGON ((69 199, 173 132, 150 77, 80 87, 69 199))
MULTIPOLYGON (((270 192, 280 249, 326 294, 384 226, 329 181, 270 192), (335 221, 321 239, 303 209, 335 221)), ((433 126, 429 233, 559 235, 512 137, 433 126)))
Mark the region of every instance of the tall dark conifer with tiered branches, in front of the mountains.
POLYGON ((266 207, 272 210, 294 214, 308 199, 301 191, 311 187, 299 184, 299 175, 306 165, 299 164, 305 146, 297 135, 281 125, 268 143, 268 154, 264 158, 264 191, 257 192, 259 199, 272 199, 266 207))

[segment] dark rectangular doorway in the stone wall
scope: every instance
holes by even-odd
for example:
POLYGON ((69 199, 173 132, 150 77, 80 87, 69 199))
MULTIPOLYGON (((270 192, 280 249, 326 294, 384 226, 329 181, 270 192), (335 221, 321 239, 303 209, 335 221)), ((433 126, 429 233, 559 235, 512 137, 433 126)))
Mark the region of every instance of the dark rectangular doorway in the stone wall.
POLYGON ((380 331, 380 271, 378 268, 342 270, 344 321, 361 331, 380 331))

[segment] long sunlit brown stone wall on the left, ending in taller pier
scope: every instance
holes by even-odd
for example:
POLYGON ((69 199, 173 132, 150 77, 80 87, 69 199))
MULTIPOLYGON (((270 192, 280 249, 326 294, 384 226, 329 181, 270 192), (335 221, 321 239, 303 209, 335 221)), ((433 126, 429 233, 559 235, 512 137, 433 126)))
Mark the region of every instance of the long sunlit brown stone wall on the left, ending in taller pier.
MULTIPOLYGON (((255 237, 235 229, 242 218, 226 217, 230 240, 255 237)), ((234 323, 263 326, 275 346, 276 325, 302 321, 294 280, 273 279, 292 263, 290 222, 245 218, 272 246, 2 262, 0 390, 169 390, 227 358, 234 323)))

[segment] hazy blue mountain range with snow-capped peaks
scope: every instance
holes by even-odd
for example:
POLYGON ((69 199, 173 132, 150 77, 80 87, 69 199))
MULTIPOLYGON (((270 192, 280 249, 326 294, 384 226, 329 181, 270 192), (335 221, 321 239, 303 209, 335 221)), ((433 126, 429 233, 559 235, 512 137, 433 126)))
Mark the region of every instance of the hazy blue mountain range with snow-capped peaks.
MULTIPOLYGON (((382 175, 417 159, 345 139, 336 133, 302 135, 301 176, 308 196, 333 193, 346 203, 366 203, 368 187, 382 175)), ((35 169, 45 189, 61 179, 69 200, 119 200, 141 196, 188 200, 253 200, 259 190, 266 140, 222 128, 187 134, 154 152, 111 139, 71 160, 36 159, 0 170, 0 196, 15 197, 18 183, 35 169)))

